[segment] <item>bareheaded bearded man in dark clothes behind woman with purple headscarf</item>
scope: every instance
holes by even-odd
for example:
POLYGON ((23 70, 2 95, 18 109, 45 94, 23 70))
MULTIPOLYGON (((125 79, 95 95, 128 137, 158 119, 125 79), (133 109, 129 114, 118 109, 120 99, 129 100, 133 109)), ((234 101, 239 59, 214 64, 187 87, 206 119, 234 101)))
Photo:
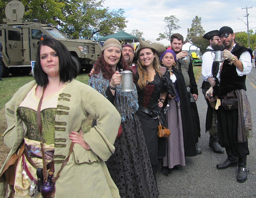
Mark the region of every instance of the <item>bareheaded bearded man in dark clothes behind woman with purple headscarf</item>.
POLYGON ((173 34, 171 36, 171 47, 177 56, 177 64, 176 68, 183 74, 184 80, 187 86, 188 94, 190 96, 190 106, 191 106, 191 115, 193 119, 193 130, 195 137, 195 147, 196 154, 200 155, 202 153, 201 148, 197 145, 198 138, 200 137, 200 121, 198 110, 196 106, 196 100, 198 98, 198 89, 196 85, 196 79, 194 77, 192 61, 190 60, 182 60, 185 56, 187 56, 186 51, 182 51, 183 46, 183 36, 181 34, 173 34))

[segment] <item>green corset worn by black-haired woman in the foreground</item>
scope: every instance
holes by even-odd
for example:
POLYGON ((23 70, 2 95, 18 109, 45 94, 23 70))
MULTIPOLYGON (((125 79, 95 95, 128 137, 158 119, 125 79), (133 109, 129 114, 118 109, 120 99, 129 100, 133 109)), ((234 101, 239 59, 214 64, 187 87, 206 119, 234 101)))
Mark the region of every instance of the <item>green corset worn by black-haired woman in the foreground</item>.
MULTIPOLYGON (((37 112, 27 107, 19 107, 17 110, 21 120, 27 127, 27 134, 30 140, 40 142, 40 134, 37 125, 37 112)), ((55 138, 55 108, 48 108, 41 111, 42 137, 48 145, 54 144, 55 138)))

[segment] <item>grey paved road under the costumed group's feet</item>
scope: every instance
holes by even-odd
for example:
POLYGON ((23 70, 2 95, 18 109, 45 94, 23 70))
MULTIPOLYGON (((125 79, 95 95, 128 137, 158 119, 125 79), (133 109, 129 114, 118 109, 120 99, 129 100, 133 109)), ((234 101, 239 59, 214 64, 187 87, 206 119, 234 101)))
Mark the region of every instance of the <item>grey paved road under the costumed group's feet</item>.
MULTIPOLYGON (((255 65, 253 64, 253 67, 255 65)), ((197 106, 201 122, 201 138, 198 145, 202 154, 186 157, 186 166, 173 170, 170 177, 157 173, 159 198, 253 198, 256 197, 256 69, 246 78, 247 96, 250 101, 253 118, 253 138, 249 139, 250 155, 247 157, 248 179, 240 184, 236 181, 237 167, 217 170, 216 164, 224 161, 226 154, 213 153, 209 148, 209 134, 205 133, 207 105, 200 89, 197 106)))

